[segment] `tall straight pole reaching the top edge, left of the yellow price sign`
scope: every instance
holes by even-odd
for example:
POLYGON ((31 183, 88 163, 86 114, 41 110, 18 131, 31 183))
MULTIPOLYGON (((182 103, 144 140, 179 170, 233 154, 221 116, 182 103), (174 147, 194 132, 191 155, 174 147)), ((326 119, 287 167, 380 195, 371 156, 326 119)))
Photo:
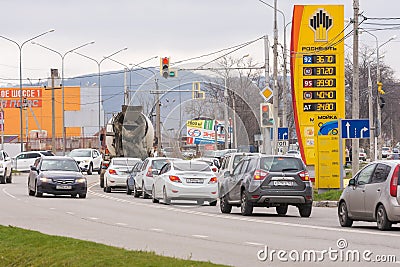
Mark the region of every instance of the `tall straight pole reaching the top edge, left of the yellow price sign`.
POLYGON ((274 0, 274 88, 273 88, 273 114, 274 114, 274 126, 273 126, 273 145, 272 153, 277 154, 277 141, 278 141, 278 112, 279 112, 279 92, 278 92, 278 26, 277 26, 277 0, 274 0))

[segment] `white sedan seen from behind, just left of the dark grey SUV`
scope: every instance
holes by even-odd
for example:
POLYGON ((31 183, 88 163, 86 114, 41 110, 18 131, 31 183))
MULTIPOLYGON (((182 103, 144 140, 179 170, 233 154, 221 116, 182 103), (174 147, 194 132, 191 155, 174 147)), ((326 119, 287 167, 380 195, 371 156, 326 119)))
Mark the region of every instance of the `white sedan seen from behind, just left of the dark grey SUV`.
POLYGON ((201 161, 176 160, 165 164, 155 177, 152 188, 153 203, 162 200, 195 200, 202 205, 208 201, 210 206, 217 204, 218 183, 210 166, 201 161))

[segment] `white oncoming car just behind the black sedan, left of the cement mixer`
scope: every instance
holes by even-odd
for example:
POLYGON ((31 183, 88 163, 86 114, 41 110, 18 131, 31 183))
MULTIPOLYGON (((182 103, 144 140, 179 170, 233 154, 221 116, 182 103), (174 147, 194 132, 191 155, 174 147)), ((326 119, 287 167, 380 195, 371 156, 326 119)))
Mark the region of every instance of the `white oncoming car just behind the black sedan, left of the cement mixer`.
POLYGON ((73 149, 68 156, 74 158, 78 162, 79 167, 82 171, 87 172, 91 175, 93 171, 101 173, 101 164, 103 157, 97 149, 93 148, 80 148, 73 149))

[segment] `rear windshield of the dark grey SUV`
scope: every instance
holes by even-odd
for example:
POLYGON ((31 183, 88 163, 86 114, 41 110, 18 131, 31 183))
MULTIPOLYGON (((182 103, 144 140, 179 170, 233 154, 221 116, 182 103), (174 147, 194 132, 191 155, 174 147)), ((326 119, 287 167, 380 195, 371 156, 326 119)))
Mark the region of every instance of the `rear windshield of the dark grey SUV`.
POLYGON ((302 162, 290 157, 263 157, 260 168, 270 172, 301 171, 304 169, 302 162))

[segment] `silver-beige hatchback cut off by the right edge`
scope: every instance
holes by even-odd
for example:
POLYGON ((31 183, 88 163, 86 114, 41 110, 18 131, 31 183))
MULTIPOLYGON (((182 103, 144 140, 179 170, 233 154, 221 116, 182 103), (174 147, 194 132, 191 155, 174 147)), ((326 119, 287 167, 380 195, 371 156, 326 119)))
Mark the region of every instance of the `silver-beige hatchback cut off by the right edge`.
POLYGON ((400 222, 400 160, 376 161, 362 168, 343 190, 339 200, 340 225, 353 221, 377 222, 389 230, 400 222))

